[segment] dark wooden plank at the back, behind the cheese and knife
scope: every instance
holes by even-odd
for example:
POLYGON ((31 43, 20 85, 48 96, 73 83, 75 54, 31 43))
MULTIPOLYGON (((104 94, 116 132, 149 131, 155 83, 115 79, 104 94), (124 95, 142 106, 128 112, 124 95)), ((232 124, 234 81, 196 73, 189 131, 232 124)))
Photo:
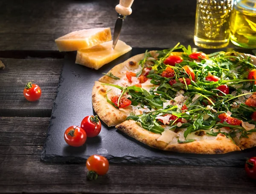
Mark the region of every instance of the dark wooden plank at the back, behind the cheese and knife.
MULTIPOLYGON (((68 32, 113 27, 117 0, 0 1, 0 50, 57 50, 54 40, 68 32), (38 9, 40 8, 40 9, 38 9)), ((133 47, 193 43, 196 0, 134 1, 120 39, 133 47)))

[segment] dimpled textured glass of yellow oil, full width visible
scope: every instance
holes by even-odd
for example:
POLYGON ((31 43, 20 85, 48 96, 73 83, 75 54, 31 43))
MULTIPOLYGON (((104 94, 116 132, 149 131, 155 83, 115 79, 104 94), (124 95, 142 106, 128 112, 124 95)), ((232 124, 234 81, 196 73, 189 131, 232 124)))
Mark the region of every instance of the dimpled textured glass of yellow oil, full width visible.
POLYGON ((229 43, 229 19, 233 0, 197 0, 195 45, 223 48, 229 43))

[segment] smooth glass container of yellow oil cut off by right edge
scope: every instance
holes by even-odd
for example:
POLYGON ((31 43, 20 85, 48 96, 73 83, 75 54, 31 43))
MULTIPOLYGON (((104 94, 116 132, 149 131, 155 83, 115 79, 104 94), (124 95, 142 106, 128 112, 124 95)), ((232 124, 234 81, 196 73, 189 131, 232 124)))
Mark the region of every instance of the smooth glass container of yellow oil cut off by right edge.
POLYGON ((256 48, 256 0, 236 0, 230 17, 230 40, 237 46, 256 48))

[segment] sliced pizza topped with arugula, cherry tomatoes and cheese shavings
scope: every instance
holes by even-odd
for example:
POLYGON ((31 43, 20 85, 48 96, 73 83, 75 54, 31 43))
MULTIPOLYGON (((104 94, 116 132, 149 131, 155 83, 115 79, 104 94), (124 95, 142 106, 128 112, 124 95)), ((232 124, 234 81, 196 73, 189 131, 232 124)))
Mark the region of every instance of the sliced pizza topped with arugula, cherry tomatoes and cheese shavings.
POLYGON ((113 67, 92 102, 106 125, 152 148, 219 154, 256 146, 255 92, 255 56, 177 44, 113 67))

